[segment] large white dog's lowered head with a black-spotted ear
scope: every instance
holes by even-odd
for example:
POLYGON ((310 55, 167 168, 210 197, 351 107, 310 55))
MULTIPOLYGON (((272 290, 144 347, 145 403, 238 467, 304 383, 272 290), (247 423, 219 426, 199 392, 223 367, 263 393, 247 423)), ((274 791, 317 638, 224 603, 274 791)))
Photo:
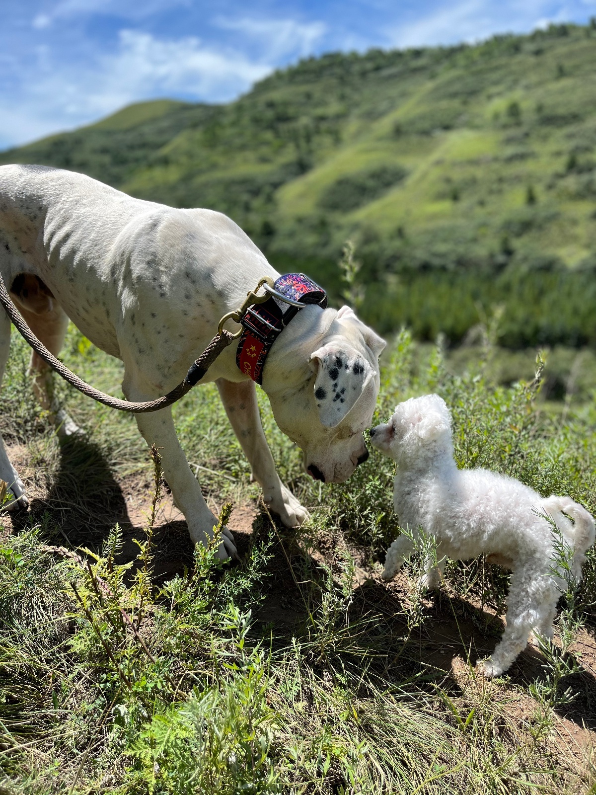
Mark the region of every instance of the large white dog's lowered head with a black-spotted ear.
POLYGON ((301 309, 273 345, 263 389, 313 478, 341 483, 368 458, 362 432, 373 418, 384 347, 346 306, 301 309))

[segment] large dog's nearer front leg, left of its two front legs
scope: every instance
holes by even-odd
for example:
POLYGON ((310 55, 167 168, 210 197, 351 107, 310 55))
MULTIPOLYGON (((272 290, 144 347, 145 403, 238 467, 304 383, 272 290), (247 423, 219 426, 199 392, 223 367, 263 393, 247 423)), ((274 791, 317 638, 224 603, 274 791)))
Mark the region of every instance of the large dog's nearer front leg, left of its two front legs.
MULTIPOLYGON (((130 401, 152 400, 155 395, 135 389, 130 384, 122 384, 122 390, 130 401)), ((207 539, 213 537, 213 527, 217 522, 207 502, 201 494, 199 483, 188 466, 184 451, 176 436, 171 409, 149 414, 136 414, 138 429, 149 446, 154 444, 161 455, 161 466, 164 477, 172 490, 176 506, 184 514, 188 524, 188 532, 195 544, 207 545, 207 539)), ((219 557, 236 557, 234 536, 226 527, 223 529, 223 540, 219 545, 219 557)))

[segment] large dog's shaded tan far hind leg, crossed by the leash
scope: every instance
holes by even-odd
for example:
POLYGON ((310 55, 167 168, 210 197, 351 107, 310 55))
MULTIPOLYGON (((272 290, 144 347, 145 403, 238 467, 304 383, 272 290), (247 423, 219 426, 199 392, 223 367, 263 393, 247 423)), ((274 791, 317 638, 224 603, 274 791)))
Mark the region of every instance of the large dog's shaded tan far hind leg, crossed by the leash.
MULTIPOLYGON (((64 337, 68 328, 68 316, 63 309, 56 301, 52 301, 52 308, 42 314, 31 312, 23 306, 19 308, 33 334, 44 343, 50 353, 57 356, 64 344, 64 337)), ((33 391, 37 400, 40 402, 41 408, 45 409, 52 417, 52 421, 56 425, 57 435, 72 436, 80 433, 79 426, 58 405, 54 394, 52 368, 35 351, 31 351, 29 375, 33 376, 33 391)))

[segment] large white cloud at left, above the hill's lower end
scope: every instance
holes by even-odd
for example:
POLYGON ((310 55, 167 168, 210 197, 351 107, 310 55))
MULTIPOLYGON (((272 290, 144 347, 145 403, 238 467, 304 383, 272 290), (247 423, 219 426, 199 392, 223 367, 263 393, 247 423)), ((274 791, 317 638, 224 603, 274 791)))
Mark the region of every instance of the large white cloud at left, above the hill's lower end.
POLYGON ((195 37, 163 40, 136 30, 122 30, 116 52, 87 68, 56 68, 45 50, 37 56, 34 80, 28 76, 10 94, 0 88, 0 146, 86 124, 156 96, 223 102, 273 68, 195 37))

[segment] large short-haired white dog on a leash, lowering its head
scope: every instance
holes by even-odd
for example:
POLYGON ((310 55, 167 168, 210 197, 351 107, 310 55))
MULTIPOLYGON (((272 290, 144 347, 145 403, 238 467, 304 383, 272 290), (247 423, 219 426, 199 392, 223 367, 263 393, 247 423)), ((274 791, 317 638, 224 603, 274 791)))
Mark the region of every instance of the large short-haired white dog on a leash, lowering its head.
MULTIPOLYGON (((11 297, 54 355, 68 319, 124 363, 130 401, 166 394, 261 277, 279 274, 242 230, 211 210, 141 201, 87 176, 41 166, 0 167, 0 270, 11 297)), ((227 328, 233 328, 228 324, 227 328)), ((238 328, 238 327, 236 327, 238 328)), ((0 308, 0 378, 10 321, 0 308)), ((262 370, 277 425, 303 451, 304 468, 328 483, 350 477, 366 459, 362 431, 379 389, 384 341, 350 308, 308 305, 277 337, 262 370)), ((52 404, 48 366, 33 354, 37 394, 62 432, 76 426, 52 404)), ((307 511, 281 483, 261 428, 250 377, 226 348, 202 382, 215 381, 265 502, 285 525, 307 511)), ((215 517, 188 467, 170 409, 137 414, 149 444, 161 448, 164 475, 192 540, 206 541, 215 517)), ((28 505, 0 439, 0 478, 14 506, 28 505)), ((220 556, 234 554, 229 531, 220 556)))

